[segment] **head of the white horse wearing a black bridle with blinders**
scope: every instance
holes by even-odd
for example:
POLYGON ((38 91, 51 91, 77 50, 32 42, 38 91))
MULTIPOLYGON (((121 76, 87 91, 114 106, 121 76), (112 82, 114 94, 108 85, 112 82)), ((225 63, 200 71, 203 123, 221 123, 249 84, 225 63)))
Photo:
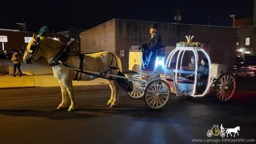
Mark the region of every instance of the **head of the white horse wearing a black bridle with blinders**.
POLYGON ((42 56, 41 51, 38 51, 40 37, 40 35, 35 36, 33 34, 32 40, 28 43, 23 56, 24 63, 32 63, 32 60, 36 60, 42 56))

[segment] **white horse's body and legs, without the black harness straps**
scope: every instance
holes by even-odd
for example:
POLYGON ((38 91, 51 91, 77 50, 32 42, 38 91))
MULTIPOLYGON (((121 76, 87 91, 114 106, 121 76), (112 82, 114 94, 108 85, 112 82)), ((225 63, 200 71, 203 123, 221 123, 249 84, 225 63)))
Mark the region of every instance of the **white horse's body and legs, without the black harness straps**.
MULTIPOLYGON (((47 62, 50 63, 63 46, 66 46, 66 43, 54 40, 52 38, 42 37, 38 34, 37 36, 33 36, 31 42, 28 43, 23 60, 25 63, 32 63, 32 60, 37 60, 43 56, 45 59, 47 59, 47 62)), ((79 69, 80 58, 79 55, 77 55, 79 43, 73 41, 69 46, 71 47, 71 52, 68 54, 68 57, 64 63, 67 64, 67 66, 79 69)), ((112 74, 118 75, 119 71, 122 72, 122 64, 120 59, 118 56, 108 51, 84 55, 83 69, 86 71, 104 73, 110 69, 111 66, 118 67, 117 69, 111 70, 112 74)), ((68 111, 76 110, 76 100, 72 86, 72 80, 75 77, 76 72, 72 71, 71 68, 62 66, 62 64, 57 64, 56 66, 53 66, 52 69, 54 77, 59 81, 62 91, 62 102, 57 107, 57 110, 68 108, 67 95, 69 95, 71 99, 71 104, 68 111)), ((78 77, 80 78, 80 73, 78 77)), ((86 74, 81 75, 81 80, 84 81, 93 80, 94 78, 97 77, 86 74)), ((107 80, 107 82, 111 89, 111 96, 109 101, 107 101, 107 104, 110 105, 110 107, 114 107, 119 103, 118 81, 107 80)))

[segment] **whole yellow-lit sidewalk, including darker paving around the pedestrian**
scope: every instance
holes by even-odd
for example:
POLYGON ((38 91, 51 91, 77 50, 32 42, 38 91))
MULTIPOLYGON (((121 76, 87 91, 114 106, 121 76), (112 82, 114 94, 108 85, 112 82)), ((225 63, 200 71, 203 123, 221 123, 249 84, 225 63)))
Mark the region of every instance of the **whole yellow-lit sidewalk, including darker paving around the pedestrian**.
MULTIPOLYGON (((12 67, 10 60, 0 60, 1 64, 12 67)), ((45 60, 34 62, 33 64, 21 63, 21 71, 25 76, 13 77, 12 75, 0 76, 0 89, 5 88, 26 88, 34 86, 59 86, 59 82, 53 76, 51 67, 47 65, 45 60)), ((73 85, 106 85, 107 82, 103 78, 96 78, 92 81, 73 81, 73 85)))

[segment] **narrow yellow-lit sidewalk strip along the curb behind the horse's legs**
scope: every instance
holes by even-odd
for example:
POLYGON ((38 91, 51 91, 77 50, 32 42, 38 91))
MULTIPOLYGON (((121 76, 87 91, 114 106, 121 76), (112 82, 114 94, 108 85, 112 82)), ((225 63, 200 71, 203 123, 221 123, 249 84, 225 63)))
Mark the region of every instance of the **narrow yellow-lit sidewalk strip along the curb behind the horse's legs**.
MULTIPOLYGON (((92 81, 73 81, 73 85, 106 85, 103 78, 96 78, 92 81)), ((59 82, 53 75, 35 76, 0 76, 0 89, 6 88, 28 88, 34 86, 49 87, 59 86, 59 82)))

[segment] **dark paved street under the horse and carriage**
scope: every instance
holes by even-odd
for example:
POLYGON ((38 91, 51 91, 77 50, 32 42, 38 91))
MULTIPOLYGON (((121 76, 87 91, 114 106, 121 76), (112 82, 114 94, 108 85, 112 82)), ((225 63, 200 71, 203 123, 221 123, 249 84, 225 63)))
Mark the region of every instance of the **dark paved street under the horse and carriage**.
MULTIPOLYGON (((120 91, 120 106, 106 106, 106 85, 75 86, 78 111, 55 111, 60 88, 0 90, 0 143, 193 143, 214 124, 240 126, 238 138, 255 138, 255 80, 238 81, 233 101, 213 96, 172 98, 163 110, 120 91)), ((211 138, 221 138, 212 136, 211 138)))

